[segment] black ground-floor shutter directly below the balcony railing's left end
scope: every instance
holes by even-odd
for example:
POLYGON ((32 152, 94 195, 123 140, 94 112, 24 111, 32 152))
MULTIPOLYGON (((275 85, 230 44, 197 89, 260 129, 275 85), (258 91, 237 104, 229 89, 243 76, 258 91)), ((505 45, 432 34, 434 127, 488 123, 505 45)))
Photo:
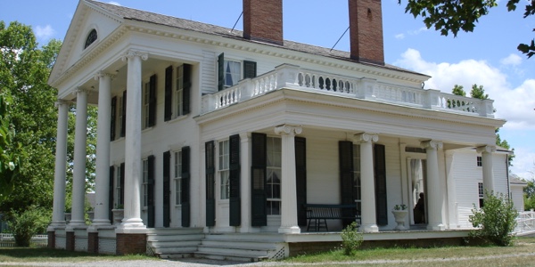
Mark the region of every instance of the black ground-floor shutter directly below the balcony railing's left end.
POLYGON ((213 141, 205 144, 206 165, 206 226, 216 225, 216 189, 215 189, 215 144, 213 141))

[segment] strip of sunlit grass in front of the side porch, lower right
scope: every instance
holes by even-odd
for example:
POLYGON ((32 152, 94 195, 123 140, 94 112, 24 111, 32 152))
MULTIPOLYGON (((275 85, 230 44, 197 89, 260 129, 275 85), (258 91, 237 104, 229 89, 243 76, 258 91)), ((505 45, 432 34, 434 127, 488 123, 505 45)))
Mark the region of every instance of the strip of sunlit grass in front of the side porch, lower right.
MULTIPOLYGON (((526 263, 535 265, 535 238, 519 238, 514 243, 513 247, 374 248, 359 250, 352 256, 344 255, 342 249, 338 249, 314 255, 299 255, 281 263, 333 263, 332 266, 337 266, 335 262, 387 260, 402 261, 399 265, 407 265, 407 262, 410 262, 411 267, 429 266, 429 261, 447 266, 499 266, 501 263, 505 266, 526 266, 526 263)), ((374 263, 374 266, 382 266, 377 264, 374 263)), ((391 266, 391 263, 385 264, 391 266)))

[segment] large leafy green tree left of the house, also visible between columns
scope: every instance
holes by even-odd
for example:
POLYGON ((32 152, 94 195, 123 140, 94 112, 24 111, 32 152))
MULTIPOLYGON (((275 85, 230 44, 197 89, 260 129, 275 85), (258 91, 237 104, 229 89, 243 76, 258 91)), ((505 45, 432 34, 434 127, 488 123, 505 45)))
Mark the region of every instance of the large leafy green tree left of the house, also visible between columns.
MULTIPOLYGON (((52 209, 55 139, 57 128, 57 90, 47 79, 62 43, 52 40, 41 47, 29 26, 0 21, 0 88, 11 96, 7 109, 13 129, 13 143, 23 146, 13 152, 20 158, 17 179, 11 194, 0 201, 0 213, 20 213, 30 206, 52 209), (36 193, 38 192, 38 193, 36 193)), ((68 164, 72 166, 74 109, 70 109, 68 164)), ((95 177, 96 109, 88 107, 87 189, 95 177)), ((4 120, 3 120, 4 122, 4 120)), ((72 174, 68 171, 68 184, 72 174)))

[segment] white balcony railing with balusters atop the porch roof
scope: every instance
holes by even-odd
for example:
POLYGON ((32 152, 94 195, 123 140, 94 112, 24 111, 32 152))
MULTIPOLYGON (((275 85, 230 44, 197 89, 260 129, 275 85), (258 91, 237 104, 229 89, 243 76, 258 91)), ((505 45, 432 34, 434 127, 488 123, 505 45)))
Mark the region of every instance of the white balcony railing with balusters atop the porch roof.
POLYGON ((479 117, 494 117, 491 100, 479 100, 439 90, 406 87, 378 82, 365 77, 345 77, 326 72, 300 69, 283 64, 274 70, 252 79, 244 79, 238 85, 218 93, 202 97, 202 114, 224 109, 235 103, 288 88, 311 93, 325 93, 367 101, 389 102, 420 109, 479 117))

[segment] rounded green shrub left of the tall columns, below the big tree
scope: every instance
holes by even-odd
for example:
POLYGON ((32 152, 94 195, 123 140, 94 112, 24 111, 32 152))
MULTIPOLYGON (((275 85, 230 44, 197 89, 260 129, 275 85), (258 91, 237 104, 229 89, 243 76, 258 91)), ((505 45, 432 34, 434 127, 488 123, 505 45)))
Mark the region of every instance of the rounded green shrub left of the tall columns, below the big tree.
POLYGON ((17 246, 29 247, 31 237, 46 231, 49 218, 49 212, 35 206, 31 206, 23 212, 12 210, 8 225, 17 246))

